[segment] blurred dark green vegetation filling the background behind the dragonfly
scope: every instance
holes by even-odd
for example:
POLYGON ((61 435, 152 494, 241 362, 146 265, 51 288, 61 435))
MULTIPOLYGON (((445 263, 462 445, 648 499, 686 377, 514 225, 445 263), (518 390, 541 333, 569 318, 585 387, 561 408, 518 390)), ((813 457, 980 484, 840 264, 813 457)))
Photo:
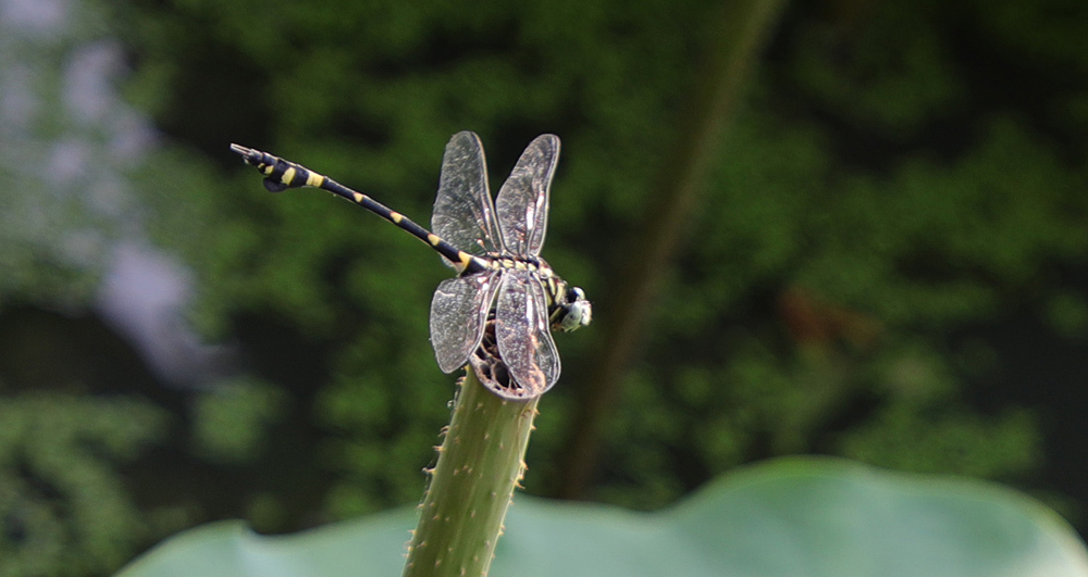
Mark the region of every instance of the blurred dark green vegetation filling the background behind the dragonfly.
MULTIPOLYGON (((32 86, 52 120, 26 129, 61 139, 67 54, 120 42, 113 81, 163 137, 113 166, 138 202, 111 217, 57 200, 92 175, 0 166, 0 575, 109 573, 211 519, 279 532, 418 502, 454 390, 426 338, 448 271, 344 202, 269 196, 227 145, 425 223, 452 134, 481 135, 493 186, 558 134, 544 255, 606 324, 719 12, 88 1, 48 50, 9 52, 58 63, 32 86), (190 267, 186 322, 237 351, 232 371, 165 386, 96 316, 100 262, 57 256, 59 231, 110 239, 137 215, 190 267)), ((662 291, 581 497, 653 510, 739 464, 823 453, 1000 480, 1084 535, 1086 26, 1074 0, 787 7, 675 266, 639 269, 662 291)), ((559 339, 530 493, 570 492, 602 334, 559 339)))

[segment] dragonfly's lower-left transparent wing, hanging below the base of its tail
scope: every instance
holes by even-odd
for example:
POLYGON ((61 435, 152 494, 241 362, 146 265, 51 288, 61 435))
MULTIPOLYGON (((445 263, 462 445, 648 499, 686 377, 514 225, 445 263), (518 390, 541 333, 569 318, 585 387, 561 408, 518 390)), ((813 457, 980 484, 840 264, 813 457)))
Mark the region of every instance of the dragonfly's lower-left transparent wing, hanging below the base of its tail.
POLYGON ((431 344, 438 368, 453 373, 468 363, 495 301, 500 271, 447 278, 431 300, 431 344))

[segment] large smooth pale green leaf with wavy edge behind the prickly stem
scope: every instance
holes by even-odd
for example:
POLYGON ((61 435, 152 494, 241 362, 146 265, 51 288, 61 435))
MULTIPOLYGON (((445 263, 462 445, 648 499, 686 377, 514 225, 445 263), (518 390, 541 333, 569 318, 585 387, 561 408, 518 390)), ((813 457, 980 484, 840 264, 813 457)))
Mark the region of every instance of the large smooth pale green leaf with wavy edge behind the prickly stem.
MULTIPOLYGON (((289 537, 239 523, 182 534, 123 577, 398 575, 412 511, 289 537)), ((1053 512, 993 485, 791 457, 658 513, 519 496, 495 576, 1088 576, 1053 512)))

